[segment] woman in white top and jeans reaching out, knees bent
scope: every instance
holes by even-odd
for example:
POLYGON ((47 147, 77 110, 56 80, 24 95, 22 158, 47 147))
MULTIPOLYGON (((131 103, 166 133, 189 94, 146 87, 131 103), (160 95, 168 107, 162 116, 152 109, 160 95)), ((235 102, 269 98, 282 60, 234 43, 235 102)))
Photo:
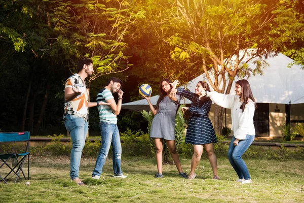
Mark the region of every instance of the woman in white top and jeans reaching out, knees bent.
POLYGON ((252 183, 252 180, 242 155, 249 148, 255 137, 253 116, 256 104, 247 80, 237 81, 235 91, 236 94, 207 92, 207 96, 215 104, 231 109, 231 129, 234 132, 234 136, 229 146, 228 158, 239 176, 237 182, 246 184, 252 183))

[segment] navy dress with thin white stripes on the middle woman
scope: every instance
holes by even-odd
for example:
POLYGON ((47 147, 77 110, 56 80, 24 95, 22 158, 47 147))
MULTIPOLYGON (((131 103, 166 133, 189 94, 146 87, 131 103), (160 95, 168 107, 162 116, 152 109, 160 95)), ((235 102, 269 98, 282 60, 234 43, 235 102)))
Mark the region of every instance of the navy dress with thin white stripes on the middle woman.
MULTIPOLYGON (((193 101, 195 93, 186 91, 181 88, 177 88, 177 94, 186 97, 193 101)), ((199 104, 199 98, 197 104, 199 104)), ((185 143, 192 145, 205 145, 210 143, 217 143, 215 131, 212 126, 211 120, 208 116, 212 101, 208 98, 203 106, 191 104, 188 111, 191 113, 185 143)))

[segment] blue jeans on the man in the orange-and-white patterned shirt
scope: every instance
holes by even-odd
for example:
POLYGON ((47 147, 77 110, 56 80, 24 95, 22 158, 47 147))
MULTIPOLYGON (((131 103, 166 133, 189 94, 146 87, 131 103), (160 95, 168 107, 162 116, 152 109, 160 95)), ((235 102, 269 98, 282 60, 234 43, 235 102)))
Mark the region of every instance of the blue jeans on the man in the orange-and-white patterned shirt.
POLYGON ((82 150, 85 146, 88 133, 88 121, 76 115, 64 116, 64 125, 72 139, 72 150, 70 157, 70 177, 79 177, 79 166, 82 150))

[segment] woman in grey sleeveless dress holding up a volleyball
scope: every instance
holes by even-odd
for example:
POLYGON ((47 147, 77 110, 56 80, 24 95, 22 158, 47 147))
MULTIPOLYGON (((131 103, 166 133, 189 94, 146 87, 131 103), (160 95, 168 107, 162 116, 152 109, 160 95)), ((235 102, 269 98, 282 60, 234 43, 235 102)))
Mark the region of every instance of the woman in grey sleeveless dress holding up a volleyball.
POLYGON ((175 114, 180 101, 180 96, 170 96, 170 83, 172 83, 172 81, 169 79, 163 79, 160 82, 160 97, 157 101, 156 108, 154 108, 150 102, 151 95, 147 97, 142 96, 148 101, 150 110, 155 115, 151 124, 150 131, 150 138, 154 139, 156 146, 156 162, 158 173, 155 175, 155 178, 163 178, 163 139, 166 140, 169 151, 177 167, 179 176, 182 178, 187 178, 186 174, 182 172, 175 146, 175 114))

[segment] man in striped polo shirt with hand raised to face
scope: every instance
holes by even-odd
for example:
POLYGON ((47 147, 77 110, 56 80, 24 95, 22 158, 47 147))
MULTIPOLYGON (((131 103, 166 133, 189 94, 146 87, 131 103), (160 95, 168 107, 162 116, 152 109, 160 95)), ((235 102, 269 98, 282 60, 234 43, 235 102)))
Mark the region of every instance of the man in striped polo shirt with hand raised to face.
POLYGON ((101 148, 97 156, 92 178, 99 179, 102 167, 105 163, 110 146, 113 149, 113 171, 115 178, 126 178, 121 170, 122 146, 120 142, 119 130, 117 127, 117 115, 122 108, 124 92, 121 90, 122 81, 118 78, 111 78, 107 85, 97 94, 97 102, 110 103, 109 106, 98 106, 99 126, 101 134, 101 148), (118 103, 116 104, 113 93, 118 93, 118 103))

